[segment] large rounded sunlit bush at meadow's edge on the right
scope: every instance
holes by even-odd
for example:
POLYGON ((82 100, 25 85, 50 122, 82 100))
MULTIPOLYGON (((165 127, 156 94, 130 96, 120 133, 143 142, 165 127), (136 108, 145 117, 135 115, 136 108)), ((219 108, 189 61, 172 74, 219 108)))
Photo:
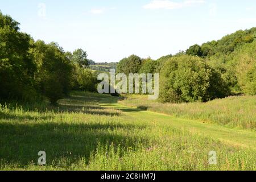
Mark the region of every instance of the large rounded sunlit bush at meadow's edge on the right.
POLYGON ((160 73, 160 100, 163 102, 208 101, 228 94, 220 73, 199 57, 172 57, 160 73))

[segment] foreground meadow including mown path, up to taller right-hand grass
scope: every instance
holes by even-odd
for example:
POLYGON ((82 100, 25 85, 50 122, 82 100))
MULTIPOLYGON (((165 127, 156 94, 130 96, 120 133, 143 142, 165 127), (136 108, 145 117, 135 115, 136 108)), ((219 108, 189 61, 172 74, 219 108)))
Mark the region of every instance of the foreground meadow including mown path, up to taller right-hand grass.
POLYGON ((255 139, 254 131, 143 111, 94 93, 73 92, 58 107, 0 109, 1 170, 256 170, 255 139), (37 164, 42 150, 46 166, 37 164), (209 165, 209 151, 217 152, 217 165, 209 165))

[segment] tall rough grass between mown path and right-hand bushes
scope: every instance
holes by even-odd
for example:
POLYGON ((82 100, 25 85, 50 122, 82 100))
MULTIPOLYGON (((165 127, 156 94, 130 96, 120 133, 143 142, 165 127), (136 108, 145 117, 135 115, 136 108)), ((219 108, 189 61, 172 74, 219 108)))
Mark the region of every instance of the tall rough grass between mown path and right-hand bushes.
POLYGON ((133 95, 127 97, 121 104, 178 118, 256 131, 256 96, 233 96, 206 103, 188 104, 161 104, 147 98, 147 96, 133 95))

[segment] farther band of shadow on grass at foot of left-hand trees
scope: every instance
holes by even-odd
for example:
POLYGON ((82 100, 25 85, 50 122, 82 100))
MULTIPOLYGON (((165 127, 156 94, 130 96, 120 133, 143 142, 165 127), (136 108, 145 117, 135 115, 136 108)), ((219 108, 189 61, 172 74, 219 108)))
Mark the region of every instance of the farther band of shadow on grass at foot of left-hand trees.
MULTIPOLYGON (((84 113, 84 114, 96 114, 96 115, 108 115, 119 116, 121 112, 118 110, 110 110, 101 107, 99 103, 117 103, 118 97, 110 97, 107 95, 76 92, 76 95, 69 96, 59 101, 57 106, 49 105, 48 102, 39 102, 34 104, 22 104, 19 106, 22 111, 36 111, 39 113, 45 113, 46 111, 52 111, 54 113, 84 113)), ((10 104, 9 109, 15 110, 17 104, 10 104), (11 109, 12 108, 12 109, 11 109)), ((21 111, 21 112, 22 112, 21 111)), ((10 111, 8 114, 1 113, 0 119, 22 119, 22 120, 35 120, 35 119, 47 119, 47 117, 31 117, 29 114, 17 115, 10 111)))

